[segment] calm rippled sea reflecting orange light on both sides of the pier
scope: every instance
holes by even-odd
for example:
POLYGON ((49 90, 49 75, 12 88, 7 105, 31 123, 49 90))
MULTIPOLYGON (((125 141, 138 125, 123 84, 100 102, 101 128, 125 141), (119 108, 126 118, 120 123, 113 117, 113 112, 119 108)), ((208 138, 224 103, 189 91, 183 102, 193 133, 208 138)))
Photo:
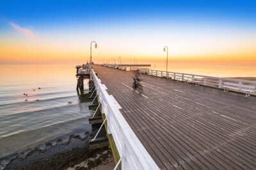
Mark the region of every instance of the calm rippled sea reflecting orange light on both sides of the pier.
MULTIPOLYGON (((165 64, 150 68, 166 70, 165 64)), ((256 77, 256 67, 169 64, 168 71, 256 77)), ((74 65, 0 65, 0 157, 63 134, 90 131, 92 111, 77 96, 75 74, 74 65)))

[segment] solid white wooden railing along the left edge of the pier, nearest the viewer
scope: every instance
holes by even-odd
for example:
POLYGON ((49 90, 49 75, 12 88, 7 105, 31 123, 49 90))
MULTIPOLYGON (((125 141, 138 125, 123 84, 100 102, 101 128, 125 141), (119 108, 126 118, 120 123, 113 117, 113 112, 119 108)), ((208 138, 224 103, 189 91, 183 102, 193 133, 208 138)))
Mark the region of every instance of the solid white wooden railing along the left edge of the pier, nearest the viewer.
POLYGON ((100 79, 92 69, 92 78, 102 104, 102 113, 108 121, 108 134, 112 134, 116 148, 120 155, 122 169, 159 169, 140 140, 132 131, 120 112, 120 105, 115 98, 108 94, 107 87, 100 83, 100 79))

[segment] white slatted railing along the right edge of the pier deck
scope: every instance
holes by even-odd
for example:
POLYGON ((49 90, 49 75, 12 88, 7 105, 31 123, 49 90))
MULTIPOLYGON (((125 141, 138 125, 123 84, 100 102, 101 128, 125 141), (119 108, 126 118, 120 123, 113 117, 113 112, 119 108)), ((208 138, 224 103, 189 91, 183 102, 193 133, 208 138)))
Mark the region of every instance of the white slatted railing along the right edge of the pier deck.
MULTIPOLYGON (((141 69, 139 67, 130 67, 130 70, 141 69)), ((249 81, 249 80, 239 80, 236 78, 220 78, 214 76, 202 76, 197 74, 186 74, 186 73, 175 73, 175 72, 166 72, 166 71, 159 71, 148 69, 148 73, 151 76, 159 76, 159 77, 166 77, 172 78, 173 80, 177 81, 185 81, 191 83, 198 83, 200 85, 205 85, 209 87, 217 87, 219 89, 223 89, 224 83, 237 83, 237 85, 252 85, 256 87, 256 81, 249 81)), ((256 90, 256 89, 255 89, 256 90)), ((239 90, 234 90, 239 91, 239 90)), ((256 94, 256 92, 252 92, 251 94, 256 94)))

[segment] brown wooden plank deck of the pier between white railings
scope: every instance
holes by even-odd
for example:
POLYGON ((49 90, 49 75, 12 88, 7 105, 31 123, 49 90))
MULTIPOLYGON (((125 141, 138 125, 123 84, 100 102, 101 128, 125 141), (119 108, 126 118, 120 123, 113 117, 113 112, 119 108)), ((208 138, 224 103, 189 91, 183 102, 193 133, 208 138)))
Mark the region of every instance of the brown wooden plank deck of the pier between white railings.
POLYGON ((160 169, 256 169, 256 97, 93 66, 160 169))

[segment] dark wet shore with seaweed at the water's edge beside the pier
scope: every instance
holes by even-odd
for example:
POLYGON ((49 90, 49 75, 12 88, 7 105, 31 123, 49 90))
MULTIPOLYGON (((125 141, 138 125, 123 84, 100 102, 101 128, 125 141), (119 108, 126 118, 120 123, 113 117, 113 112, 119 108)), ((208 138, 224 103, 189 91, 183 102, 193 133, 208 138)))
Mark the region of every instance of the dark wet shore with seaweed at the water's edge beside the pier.
MULTIPOLYGON (((62 136, 1 158, 0 169, 113 169, 115 161, 108 147, 89 150, 89 139, 97 130, 62 136)), ((104 131, 99 135, 104 135, 104 131)))

